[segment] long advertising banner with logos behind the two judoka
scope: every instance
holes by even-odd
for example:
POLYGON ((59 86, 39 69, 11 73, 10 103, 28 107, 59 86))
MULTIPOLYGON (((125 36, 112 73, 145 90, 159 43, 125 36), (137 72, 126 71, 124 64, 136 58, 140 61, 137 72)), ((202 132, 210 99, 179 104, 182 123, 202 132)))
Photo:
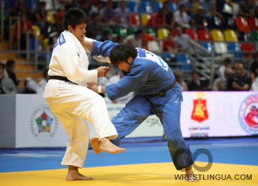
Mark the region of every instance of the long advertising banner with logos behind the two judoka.
MULTIPOLYGON (((184 137, 258 135, 258 92, 184 92, 183 96, 181 129, 184 137)), ((110 118, 124 106, 107 104, 110 118)), ((92 138, 96 133, 92 124, 88 124, 92 138)), ((127 137, 163 134, 159 118, 152 115, 127 137)), ((66 146, 68 141, 42 95, 16 95, 16 148, 60 147, 66 146)))

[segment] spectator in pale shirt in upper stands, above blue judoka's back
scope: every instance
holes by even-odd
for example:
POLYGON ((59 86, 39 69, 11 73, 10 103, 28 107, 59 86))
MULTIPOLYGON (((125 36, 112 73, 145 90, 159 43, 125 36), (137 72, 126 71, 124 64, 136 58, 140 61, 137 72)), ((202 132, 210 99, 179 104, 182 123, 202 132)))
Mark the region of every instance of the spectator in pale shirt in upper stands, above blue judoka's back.
POLYGON ((174 12, 173 17, 177 26, 182 26, 183 28, 190 28, 188 15, 185 12, 184 4, 179 5, 178 10, 174 12))

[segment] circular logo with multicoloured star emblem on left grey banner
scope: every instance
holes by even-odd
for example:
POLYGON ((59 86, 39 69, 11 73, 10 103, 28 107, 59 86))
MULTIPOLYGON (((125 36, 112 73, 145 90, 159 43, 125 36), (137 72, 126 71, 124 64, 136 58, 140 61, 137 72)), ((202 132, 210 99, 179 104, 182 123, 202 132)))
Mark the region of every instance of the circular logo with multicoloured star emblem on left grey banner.
POLYGON ((31 115, 30 129, 39 141, 49 141, 56 133, 58 121, 47 105, 41 105, 31 115))

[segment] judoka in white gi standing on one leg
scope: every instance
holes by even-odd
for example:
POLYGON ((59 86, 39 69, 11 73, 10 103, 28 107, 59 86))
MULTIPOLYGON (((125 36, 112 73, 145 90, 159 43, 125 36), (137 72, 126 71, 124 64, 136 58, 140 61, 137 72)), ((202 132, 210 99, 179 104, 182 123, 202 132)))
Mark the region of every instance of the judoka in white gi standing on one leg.
POLYGON ((79 8, 70 8, 65 15, 65 31, 55 42, 49 64, 49 81, 44 98, 49 108, 68 133, 66 153, 61 165, 68 166, 66 180, 92 180, 78 172, 84 166, 89 144, 89 127, 93 125, 100 140, 100 151, 119 153, 125 149, 111 143, 118 134, 111 123, 104 99, 87 88, 87 83, 97 83, 98 77, 109 72, 109 67, 88 70, 87 51, 81 42, 85 37, 87 15, 79 8))

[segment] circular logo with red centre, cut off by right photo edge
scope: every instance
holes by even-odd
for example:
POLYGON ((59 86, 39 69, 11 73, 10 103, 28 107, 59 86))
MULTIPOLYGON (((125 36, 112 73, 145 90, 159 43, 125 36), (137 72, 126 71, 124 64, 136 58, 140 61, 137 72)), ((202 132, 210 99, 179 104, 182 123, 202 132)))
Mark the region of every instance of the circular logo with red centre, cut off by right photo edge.
POLYGON ((258 94, 250 95, 242 102, 239 121, 248 133, 258 134, 258 94))

